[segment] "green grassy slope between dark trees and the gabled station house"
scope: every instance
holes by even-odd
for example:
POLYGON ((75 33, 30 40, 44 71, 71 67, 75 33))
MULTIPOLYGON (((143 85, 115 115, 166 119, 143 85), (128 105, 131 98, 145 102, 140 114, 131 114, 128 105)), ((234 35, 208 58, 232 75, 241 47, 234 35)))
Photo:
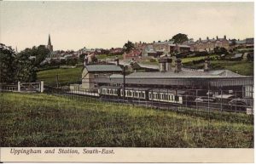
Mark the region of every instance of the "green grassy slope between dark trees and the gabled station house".
POLYGON ((46 85, 55 85, 56 75, 59 75, 59 83, 78 83, 81 81, 82 66, 71 69, 52 69, 38 72, 38 80, 43 80, 46 85))

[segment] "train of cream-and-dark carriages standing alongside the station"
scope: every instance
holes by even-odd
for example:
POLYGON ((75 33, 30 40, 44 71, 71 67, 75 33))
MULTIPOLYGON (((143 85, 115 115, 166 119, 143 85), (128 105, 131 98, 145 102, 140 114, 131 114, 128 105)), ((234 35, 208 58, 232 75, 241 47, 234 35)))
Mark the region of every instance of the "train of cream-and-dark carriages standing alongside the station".
POLYGON ((150 101, 160 106, 168 105, 185 105, 194 108, 210 107, 212 110, 225 111, 247 111, 247 107, 251 106, 245 101, 236 101, 236 99, 221 99, 214 96, 198 96, 195 92, 181 89, 166 88, 131 88, 119 86, 101 86, 98 88, 99 97, 106 100, 136 100, 150 101), (235 104, 233 102, 236 102, 235 104), (162 104, 161 104, 162 103, 162 104))

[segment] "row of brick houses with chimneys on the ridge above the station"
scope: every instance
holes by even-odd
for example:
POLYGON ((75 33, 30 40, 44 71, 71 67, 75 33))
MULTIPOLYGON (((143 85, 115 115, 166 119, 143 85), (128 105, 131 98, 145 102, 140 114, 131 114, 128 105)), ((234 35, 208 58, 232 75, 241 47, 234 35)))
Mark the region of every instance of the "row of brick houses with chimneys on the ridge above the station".
POLYGON ((135 48, 129 53, 124 54, 124 59, 139 59, 144 57, 160 57, 163 54, 178 54, 187 52, 212 52, 214 48, 253 48, 253 38, 246 38, 244 40, 227 39, 226 36, 223 38, 206 39, 199 38, 197 41, 189 39, 189 41, 182 44, 174 43, 169 40, 165 42, 153 42, 153 43, 135 43, 135 48))

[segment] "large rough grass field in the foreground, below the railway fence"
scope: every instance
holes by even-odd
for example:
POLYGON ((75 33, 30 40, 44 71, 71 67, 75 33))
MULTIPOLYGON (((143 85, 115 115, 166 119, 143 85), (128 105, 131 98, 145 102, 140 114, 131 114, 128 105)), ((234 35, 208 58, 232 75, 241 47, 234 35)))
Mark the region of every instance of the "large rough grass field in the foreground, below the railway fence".
POLYGON ((219 120, 47 94, 2 93, 0 105, 2 147, 253 147, 245 114, 219 120))

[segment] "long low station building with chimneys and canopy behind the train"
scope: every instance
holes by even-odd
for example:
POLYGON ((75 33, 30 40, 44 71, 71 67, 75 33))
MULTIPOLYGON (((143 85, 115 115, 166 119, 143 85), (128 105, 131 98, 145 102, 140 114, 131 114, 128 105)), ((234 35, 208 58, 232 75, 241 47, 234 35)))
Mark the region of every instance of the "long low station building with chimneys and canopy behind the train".
MULTIPOLYGON (((209 60, 205 61, 203 70, 185 69, 181 60, 175 60, 175 67, 171 67, 172 60, 166 58, 160 60, 160 71, 133 72, 125 76, 127 88, 161 88, 161 89, 203 89, 219 94, 220 91, 238 91, 240 97, 253 97, 253 77, 242 76, 229 70, 209 69, 209 60)), ((113 74, 109 77, 97 77, 94 79, 96 86, 124 86, 124 77, 121 74, 113 74)))

